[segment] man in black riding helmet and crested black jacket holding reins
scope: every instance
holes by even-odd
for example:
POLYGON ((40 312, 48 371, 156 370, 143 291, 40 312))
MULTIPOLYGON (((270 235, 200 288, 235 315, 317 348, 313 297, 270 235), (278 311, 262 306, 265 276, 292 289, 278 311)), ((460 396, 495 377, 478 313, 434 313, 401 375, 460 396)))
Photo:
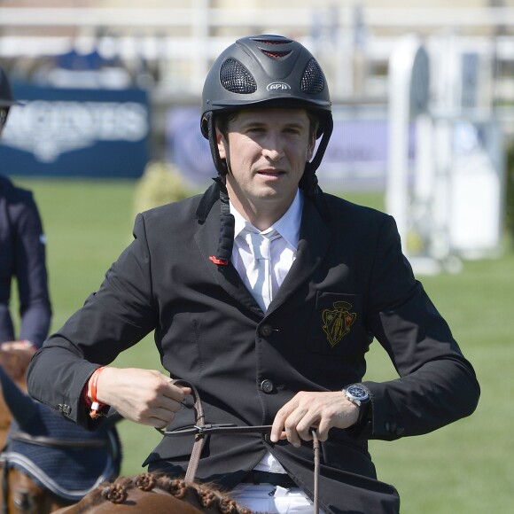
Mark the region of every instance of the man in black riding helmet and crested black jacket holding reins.
MULTIPOLYGON (((170 376, 198 388, 206 423, 273 425, 269 437, 209 436, 198 479, 253 510, 311 511, 314 426, 321 508, 398 512, 367 440, 468 416, 479 385, 412 276, 393 219, 317 186, 331 128, 323 71, 300 43, 261 35, 223 51, 201 118, 214 185, 137 216, 99 291, 35 354, 30 393, 84 426, 101 423, 105 406, 159 428, 191 425, 188 387, 108 366, 155 331, 170 376), (373 338, 400 378, 362 382, 373 338)), ((165 437, 149 470, 183 475, 192 444, 165 437)))

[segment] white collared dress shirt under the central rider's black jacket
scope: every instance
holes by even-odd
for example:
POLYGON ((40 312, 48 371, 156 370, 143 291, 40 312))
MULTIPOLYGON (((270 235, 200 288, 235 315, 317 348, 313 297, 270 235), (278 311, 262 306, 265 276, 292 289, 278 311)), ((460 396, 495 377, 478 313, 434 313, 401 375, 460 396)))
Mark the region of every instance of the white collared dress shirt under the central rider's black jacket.
MULTIPOLYGON (((273 296, 280 285, 284 282, 284 278, 292 267, 292 263, 296 259, 296 251, 298 249, 298 240, 300 238, 300 222, 301 212, 303 208, 303 193, 298 190, 296 196, 292 200, 292 204, 286 213, 269 229, 275 229, 280 237, 271 242, 271 283, 273 296)), ((232 264, 238 270, 239 276, 243 279, 246 287, 250 292, 252 286, 246 274, 246 269, 250 267, 253 260, 253 253, 250 246, 246 242, 244 235, 241 234, 246 227, 251 230, 259 231, 250 222, 247 222, 242 214, 239 214, 236 208, 230 203, 230 213, 234 215, 234 247, 232 249, 232 264)), ((268 232, 268 230, 264 230, 268 232)), ((262 457, 261 462, 255 468, 258 471, 269 471, 273 473, 284 473, 284 468, 269 452, 262 457)))

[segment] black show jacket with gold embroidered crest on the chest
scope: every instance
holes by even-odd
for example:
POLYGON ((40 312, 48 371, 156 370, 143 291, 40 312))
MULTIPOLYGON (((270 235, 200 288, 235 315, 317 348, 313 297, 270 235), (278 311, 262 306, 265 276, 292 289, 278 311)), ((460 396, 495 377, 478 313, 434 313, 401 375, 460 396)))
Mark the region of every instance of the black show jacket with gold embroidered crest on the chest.
MULTIPOLYGON (((220 208, 205 204, 216 187, 203 200, 137 216, 135 240, 98 292, 35 354, 30 393, 88 425, 81 395, 91 372, 155 331, 163 366, 198 387, 207 423, 271 424, 299 391, 362 382, 375 338, 399 378, 363 382, 372 419, 358 431, 332 429, 323 443, 321 505, 327 512, 397 512, 398 495, 378 481, 367 440, 431 432, 468 416, 479 385, 403 257, 393 218, 328 194, 322 217, 306 197, 296 261, 263 314, 237 270, 209 260, 220 208), (205 220, 197 215, 202 209, 205 220)), ((170 428, 191 423, 191 409, 183 409, 170 428)), ((146 463, 183 473, 192 443, 165 437, 146 463)), ((308 442, 293 448, 259 434, 212 435, 197 476, 234 487, 267 450, 312 495, 308 442)))

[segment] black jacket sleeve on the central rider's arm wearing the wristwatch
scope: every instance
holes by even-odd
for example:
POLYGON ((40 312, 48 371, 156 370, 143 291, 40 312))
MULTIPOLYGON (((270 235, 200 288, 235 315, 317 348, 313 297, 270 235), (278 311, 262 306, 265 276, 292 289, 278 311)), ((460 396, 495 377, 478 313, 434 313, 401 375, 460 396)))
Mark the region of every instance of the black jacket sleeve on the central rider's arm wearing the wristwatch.
POLYGON ((471 415, 479 401, 475 372, 414 278, 390 216, 375 255, 367 325, 399 378, 363 382, 370 390, 372 419, 361 436, 395 440, 432 432, 471 415))

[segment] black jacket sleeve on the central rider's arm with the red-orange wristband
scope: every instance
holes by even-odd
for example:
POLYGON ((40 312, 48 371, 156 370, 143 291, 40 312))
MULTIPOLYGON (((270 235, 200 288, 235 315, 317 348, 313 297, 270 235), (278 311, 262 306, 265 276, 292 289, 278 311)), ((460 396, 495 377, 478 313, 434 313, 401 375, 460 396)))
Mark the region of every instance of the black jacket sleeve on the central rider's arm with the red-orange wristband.
POLYGON ((82 401, 91 374, 143 339, 157 320, 141 215, 134 235, 135 240, 107 271, 99 290, 44 342, 27 370, 31 396, 87 428, 97 425, 82 401))

